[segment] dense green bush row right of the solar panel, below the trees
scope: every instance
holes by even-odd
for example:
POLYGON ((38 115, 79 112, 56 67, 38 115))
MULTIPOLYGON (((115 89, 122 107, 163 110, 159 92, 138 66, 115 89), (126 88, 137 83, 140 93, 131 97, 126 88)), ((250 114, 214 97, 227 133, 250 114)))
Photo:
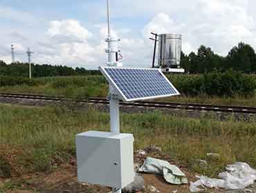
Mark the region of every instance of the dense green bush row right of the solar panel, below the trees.
POLYGON ((213 96, 248 96, 255 94, 256 77, 228 70, 224 73, 212 72, 197 75, 167 75, 168 79, 182 94, 196 96, 208 94, 213 96))

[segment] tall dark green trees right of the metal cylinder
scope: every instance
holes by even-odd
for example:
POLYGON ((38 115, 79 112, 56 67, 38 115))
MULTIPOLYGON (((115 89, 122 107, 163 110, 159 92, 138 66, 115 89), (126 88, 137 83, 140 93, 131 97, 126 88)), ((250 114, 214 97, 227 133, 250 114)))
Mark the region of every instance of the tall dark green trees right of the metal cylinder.
POLYGON ((215 54, 211 48, 201 45, 197 53, 181 53, 181 67, 190 74, 226 72, 232 69, 243 73, 256 73, 255 50, 246 43, 233 47, 226 57, 215 54))

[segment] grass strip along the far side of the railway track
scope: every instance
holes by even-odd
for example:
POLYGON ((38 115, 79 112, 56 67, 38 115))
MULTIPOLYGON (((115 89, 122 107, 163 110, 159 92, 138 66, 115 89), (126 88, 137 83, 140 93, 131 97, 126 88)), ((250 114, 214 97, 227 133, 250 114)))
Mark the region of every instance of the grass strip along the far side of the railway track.
MULTIPOLYGON (((185 76, 185 75, 183 75, 185 76)), ((173 77, 177 81, 177 77, 173 77)), ((0 92, 26 93, 26 94, 48 94, 67 97, 106 97, 108 93, 107 81, 102 76, 86 77, 46 77, 37 78, 37 85, 15 85, 1 86, 0 92)), ((208 96, 199 94, 196 96, 176 96, 159 101, 181 102, 181 103, 206 103, 214 105, 247 105, 256 106, 255 96, 208 96)))

